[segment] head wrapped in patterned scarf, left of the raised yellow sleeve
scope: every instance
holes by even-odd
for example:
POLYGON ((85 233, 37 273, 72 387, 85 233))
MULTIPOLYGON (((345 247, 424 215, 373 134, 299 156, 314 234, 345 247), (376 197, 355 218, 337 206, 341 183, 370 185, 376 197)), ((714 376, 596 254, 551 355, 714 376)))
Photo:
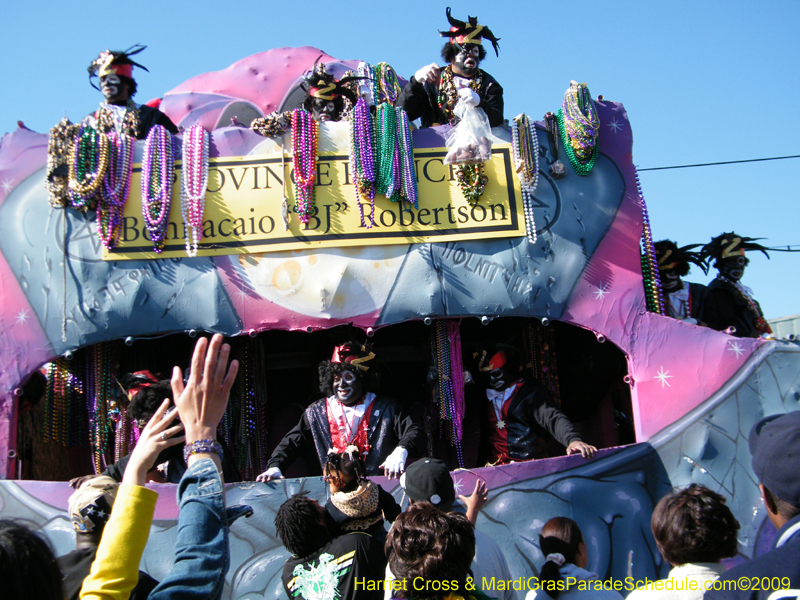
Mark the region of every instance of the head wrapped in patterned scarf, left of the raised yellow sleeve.
POLYGON ((78 548, 97 546, 111 518, 119 482, 106 475, 83 481, 69 497, 69 518, 78 548))

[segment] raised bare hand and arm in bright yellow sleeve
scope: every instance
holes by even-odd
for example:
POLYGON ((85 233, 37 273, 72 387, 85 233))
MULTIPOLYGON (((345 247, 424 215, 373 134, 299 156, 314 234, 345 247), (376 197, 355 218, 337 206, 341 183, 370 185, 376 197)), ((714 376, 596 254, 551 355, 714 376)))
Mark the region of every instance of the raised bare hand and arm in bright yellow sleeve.
POLYGON ((139 579, 139 562, 158 499, 156 492, 144 487, 147 471, 161 451, 184 440, 183 436, 172 437, 182 425, 169 427, 172 419, 162 418, 169 405, 169 400, 161 404, 130 455, 91 573, 83 581, 81 598, 127 600, 139 579))

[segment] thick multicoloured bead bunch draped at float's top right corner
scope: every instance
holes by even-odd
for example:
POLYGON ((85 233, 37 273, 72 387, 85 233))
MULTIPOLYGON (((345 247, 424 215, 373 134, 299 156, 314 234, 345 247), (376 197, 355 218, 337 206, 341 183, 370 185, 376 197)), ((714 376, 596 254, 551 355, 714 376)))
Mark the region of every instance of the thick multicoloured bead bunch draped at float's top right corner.
POLYGON ((600 133, 597 107, 585 83, 570 82, 558 111, 558 125, 572 168, 585 177, 597 162, 600 133))

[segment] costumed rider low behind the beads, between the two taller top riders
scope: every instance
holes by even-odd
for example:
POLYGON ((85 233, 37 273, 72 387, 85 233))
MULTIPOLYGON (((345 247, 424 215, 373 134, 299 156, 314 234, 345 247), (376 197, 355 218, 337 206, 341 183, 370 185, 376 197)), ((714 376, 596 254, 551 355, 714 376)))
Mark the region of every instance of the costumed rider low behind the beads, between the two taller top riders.
MULTIPOLYGON (((306 93, 303 109, 310 112, 319 123, 340 120, 345 110, 345 100, 351 104, 358 100, 356 93, 347 85, 357 79, 361 78, 347 76, 336 79, 328 73, 324 63, 315 62, 311 71, 303 75, 303 82, 300 84, 306 93)), ((265 137, 277 137, 291 129, 293 112, 274 112, 266 117, 253 119, 250 129, 265 137)))

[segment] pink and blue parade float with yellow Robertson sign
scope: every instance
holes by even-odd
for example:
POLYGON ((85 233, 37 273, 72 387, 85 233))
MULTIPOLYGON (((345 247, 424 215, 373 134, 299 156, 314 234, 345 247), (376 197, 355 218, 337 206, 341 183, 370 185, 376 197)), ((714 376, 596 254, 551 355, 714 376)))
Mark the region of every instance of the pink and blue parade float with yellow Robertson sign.
MULTIPOLYGON (((662 314, 623 105, 589 99, 595 127, 583 160, 563 113, 493 128, 485 184, 465 185, 447 164, 449 125, 396 136, 394 187, 381 189, 352 150, 356 110, 320 123, 313 140, 249 127, 297 108, 303 74, 317 62, 337 77, 387 72, 304 47, 190 79, 156 103, 181 133, 147 151, 145 142, 116 151, 133 169, 115 205, 51 206, 52 138, 23 125, 3 137, 2 515, 36 524, 58 554, 71 550, 66 480, 101 471, 135 443, 115 377, 185 368, 206 333, 227 336, 242 364, 220 434, 252 480, 315 398, 316 364, 357 338, 380 358, 384 391, 424 422, 428 451, 451 464, 456 489, 487 481, 478 528, 503 548, 515 578, 538 573, 538 531, 558 515, 580 524, 601 578, 666 575, 650 515, 664 492, 691 482, 728 498, 742 523, 741 558, 759 553, 774 530, 747 433, 764 415, 797 410, 800 349, 662 314), (531 374, 601 448, 593 460, 479 468, 485 399, 462 369, 498 341, 524 349, 531 374), (36 390, 40 370, 47 385, 36 390)), ((396 118, 375 112, 378 123, 396 118)), ((297 491, 327 494, 313 465, 287 475, 229 487, 228 502, 255 515, 231 530, 226 598, 283 595, 275 511, 297 491)), ((403 497, 396 482, 378 481, 403 497)), ((155 488, 142 568, 161 579, 177 507, 173 486, 155 488)))

